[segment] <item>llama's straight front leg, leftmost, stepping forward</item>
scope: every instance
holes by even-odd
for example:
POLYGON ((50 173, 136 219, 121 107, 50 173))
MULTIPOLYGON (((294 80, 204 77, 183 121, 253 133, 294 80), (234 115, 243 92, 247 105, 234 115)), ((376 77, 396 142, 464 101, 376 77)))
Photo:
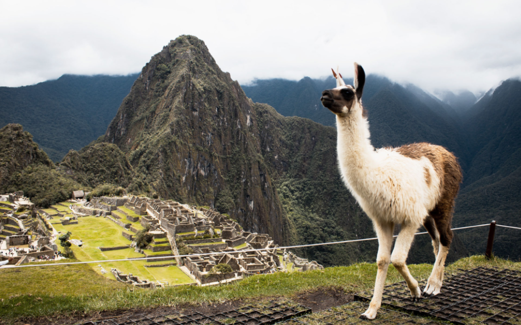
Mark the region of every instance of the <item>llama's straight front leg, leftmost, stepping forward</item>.
POLYGON ((378 255, 376 257, 376 264, 378 271, 376 273, 375 292, 373 299, 369 304, 369 308, 360 316, 362 319, 375 319, 376 312, 380 309, 382 304, 383 286, 386 282, 387 269, 389 268, 391 246, 392 246, 392 232, 394 224, 392 223, 377 223, 375 222, 375 230, 378 236, 378 255))

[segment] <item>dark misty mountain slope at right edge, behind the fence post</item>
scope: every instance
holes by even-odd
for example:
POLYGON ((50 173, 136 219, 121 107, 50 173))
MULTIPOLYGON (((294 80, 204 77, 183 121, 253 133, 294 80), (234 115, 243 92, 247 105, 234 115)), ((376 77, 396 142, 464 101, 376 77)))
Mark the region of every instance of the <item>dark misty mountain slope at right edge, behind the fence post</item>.
MULTIPOLYGON (((521 81, 509 79, 475 105, 465 122, 472 138, 472 161, 458 198, 458 224, 488 223, 521 227, 521 81)), ((486 246, 486 231, 465 234, 468 247, 486 246)), ((498 228, 495 254, 521 258, 521 231, 498 228)))

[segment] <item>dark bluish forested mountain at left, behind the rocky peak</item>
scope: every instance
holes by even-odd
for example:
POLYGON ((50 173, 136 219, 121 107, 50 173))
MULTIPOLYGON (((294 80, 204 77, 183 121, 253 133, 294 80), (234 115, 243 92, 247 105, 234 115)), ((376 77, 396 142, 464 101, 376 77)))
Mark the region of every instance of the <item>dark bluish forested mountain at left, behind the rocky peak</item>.
POLYGON ((64 75, 33 86, 0 87, 0 126, 22 124, 59 161, 105 133, 137 77, 64 75))

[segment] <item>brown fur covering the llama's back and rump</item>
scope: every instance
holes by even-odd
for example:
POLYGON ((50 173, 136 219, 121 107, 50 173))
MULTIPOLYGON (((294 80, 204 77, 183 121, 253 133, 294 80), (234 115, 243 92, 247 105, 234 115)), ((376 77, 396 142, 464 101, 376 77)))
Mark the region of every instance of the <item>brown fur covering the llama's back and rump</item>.
POLYGON ((458 190, 460 190, 460 183, 463 178, 460 164, 457 163, 454 154, 441 146, 431 145, 430 143, 413 143, 396 148, 396 151, 412 159, 425 157, 434 166, 434 170, 441 180, 441 196, 436 207, 429 212, 429 216, 436 224, 440 234, 440 243, 449 247, 452 241, 451 226, 454 200, 458 190))

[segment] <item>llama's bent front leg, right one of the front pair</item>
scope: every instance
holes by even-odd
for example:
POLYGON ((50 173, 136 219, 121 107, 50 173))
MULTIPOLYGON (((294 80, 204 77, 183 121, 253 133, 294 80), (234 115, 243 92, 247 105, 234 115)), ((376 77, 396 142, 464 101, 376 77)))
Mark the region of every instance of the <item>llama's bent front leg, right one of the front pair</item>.
POLYGON ((409 250, 411 249, 411 244, 413 243, 414 233, 416 233, 417 230, 417 225, 402 224, 402 229, 396 239, 396 244, 394 245, 394 250, 391 256, 391 262, 405 279, 409 290, 411 290, 413 300, 419 299, 421 296, 421 290, 418 286, 418 281, 416 281, 411 275, 411 272, 409 272, 406 260, 409 250))

